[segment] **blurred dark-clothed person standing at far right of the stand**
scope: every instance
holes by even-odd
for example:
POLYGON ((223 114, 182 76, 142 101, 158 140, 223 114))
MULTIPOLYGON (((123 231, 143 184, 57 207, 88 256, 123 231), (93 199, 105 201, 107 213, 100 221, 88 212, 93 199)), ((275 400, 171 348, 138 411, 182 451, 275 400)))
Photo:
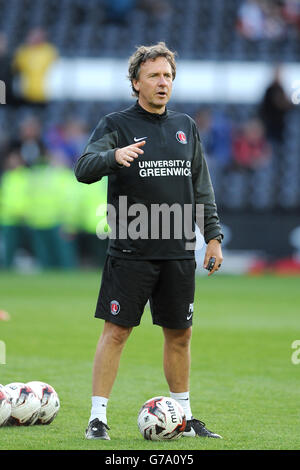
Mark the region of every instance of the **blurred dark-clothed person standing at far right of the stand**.
POLYGON ((284 139, 286 115, 292 107, 281 81, 281 68, 276 67, 274 77, 267 87, 259 105, 259 116, 262 119, 267 138, 281 144, 284 139))

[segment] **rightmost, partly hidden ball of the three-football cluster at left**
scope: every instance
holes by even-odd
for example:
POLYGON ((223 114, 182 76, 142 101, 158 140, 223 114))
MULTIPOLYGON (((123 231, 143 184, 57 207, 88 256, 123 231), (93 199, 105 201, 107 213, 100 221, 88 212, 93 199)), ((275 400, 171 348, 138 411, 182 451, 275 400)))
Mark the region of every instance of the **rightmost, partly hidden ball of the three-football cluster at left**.
POLYGON ((60 401, 54 388, 37 380, 28 382, 41 402, 41 409, 36 424, 50 424, 54 420, 60 408, 60 401))

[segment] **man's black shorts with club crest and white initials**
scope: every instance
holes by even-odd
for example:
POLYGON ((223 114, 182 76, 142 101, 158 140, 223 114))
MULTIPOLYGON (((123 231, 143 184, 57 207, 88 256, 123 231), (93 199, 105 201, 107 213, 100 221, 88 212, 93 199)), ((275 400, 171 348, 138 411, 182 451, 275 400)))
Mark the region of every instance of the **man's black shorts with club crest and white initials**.
POLYGON ((137 326, 149 300, 153 324, 189 328, 194 293, 194 259, 137 261, 108 255, 95 317, 121 326, 137 326))

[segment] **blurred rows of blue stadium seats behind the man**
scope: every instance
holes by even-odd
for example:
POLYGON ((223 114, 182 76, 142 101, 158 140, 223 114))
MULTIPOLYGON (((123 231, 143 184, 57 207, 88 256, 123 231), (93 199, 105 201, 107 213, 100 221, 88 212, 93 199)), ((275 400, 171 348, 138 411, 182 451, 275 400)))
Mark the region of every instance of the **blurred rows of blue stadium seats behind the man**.
MULTIPOLYGON (((177 51, 179 59, 297 63, 300 60, 300 13, 293 3, 290 0, 0 0, 0 32, 8 38, 11 59, 28 32, 38 26, 47 31, 49 40, 65 58, 127 59, 136 45, 163 40, 177 51), (249 5, 256 8, 255 14, 261 15, 265 25, 264 31, 256 32, 257 35, 252 37, 247 36, 247 25, 243 24, 243 8, 249 8, 249 5)), ((26 116, 33 114, 40 120, 44 145, 49 147, 51 142, 52 151, 55 147, 53 139, 61 139, 60 157, 71 169, 75 155, 70 157, 70 148, 66 150, 65 123, 74 121, 72 132, 79 152, 83 137, 90 133, 102 115, 128 104, 129 101, 61 100, 49 102, 43 109, 31 108, 28 104, 1 106, 0 171, 5 169, 8 149, 20 139, 18 129, 26 116), (80 126, 76 130, 79 119, 84 123, 84 132, 80 126)), ((196 118, 203 103, 171 103, 170 106, 196 118)), ((259 103, 210 103, 208 108, 213 122, 209 130, 203 131, 205 145, 210 139, 213 142, 221 132, 214 121, 215 116, 222 115, 222 125, 230 129, 227 135, 230 145, 241 127, 259 113, 259 103)), ((286 114, 284 128, 283 142, 280 145, 269 142, 271 155, 261 166, 254 168, 237 165, 233 152, 226 165, 221 164, 217 153, 214 154, 216 148, 207 144, 208 162, 221 211, 300 209, 299 106, 291 107, 286 114)), ((201 129, 199 132, 201 134, 201 129)))

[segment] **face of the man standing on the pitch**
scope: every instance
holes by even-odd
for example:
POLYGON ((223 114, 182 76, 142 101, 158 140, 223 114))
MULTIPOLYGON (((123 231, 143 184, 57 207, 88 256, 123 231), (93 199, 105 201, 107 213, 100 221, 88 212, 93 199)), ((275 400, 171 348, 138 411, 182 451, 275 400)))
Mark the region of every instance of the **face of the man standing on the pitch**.
POLYGON ((133 80, 139 104, 150 113, 162 114, 172 92, 172 68, 165 57, 141 64, 139 78, 133 80))

